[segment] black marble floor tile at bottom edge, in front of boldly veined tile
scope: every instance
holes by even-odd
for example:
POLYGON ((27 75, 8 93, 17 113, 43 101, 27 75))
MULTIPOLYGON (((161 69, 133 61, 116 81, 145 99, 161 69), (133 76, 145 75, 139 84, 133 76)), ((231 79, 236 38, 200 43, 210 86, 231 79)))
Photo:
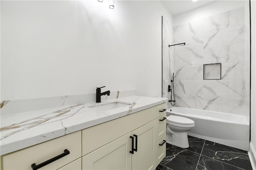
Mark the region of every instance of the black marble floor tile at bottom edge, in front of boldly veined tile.
POLYGON ((243 169, 201 155, 196 170, 243 170, 243 169))

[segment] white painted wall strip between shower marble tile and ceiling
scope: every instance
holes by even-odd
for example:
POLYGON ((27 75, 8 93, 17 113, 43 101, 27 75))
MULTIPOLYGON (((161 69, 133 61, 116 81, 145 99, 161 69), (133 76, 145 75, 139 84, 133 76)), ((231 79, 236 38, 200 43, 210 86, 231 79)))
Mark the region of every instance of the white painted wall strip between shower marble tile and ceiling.
POLYGON ((173 16, 173 26, 183 25, 188 22, 200 20, 209 16, 220 14, 222 12, 234 10, 236 8, 244 6, 245 2, 246 1, 244 0, 220 0, 212 2, 195 10, 173 16))

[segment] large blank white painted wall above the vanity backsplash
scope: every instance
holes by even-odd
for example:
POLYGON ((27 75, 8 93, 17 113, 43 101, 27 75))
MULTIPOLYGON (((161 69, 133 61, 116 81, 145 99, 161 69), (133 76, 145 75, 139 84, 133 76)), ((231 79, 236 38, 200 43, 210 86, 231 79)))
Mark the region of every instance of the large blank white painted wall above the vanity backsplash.
POLYGON ((1 101, 95 93, 161 96, 161 2, 1 1, 1 101))

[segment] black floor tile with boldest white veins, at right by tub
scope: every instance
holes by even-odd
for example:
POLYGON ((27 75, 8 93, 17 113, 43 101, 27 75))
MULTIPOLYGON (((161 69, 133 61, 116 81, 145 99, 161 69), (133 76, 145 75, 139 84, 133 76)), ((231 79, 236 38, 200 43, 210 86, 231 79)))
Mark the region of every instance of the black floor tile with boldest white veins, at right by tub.
POLYGON ((244 150, 206 140, 202 155, 245 170, 252 170, 249 156, 244 150))

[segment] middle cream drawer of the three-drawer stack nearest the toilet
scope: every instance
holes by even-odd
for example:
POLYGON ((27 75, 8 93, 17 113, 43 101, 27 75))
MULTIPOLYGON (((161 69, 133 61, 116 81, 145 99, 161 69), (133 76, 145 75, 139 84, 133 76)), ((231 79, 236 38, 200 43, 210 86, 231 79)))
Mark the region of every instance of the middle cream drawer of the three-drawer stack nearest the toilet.
POLYGON ((166 135, 166 114, 155 120, 154 142, 157 142, 166 135))

